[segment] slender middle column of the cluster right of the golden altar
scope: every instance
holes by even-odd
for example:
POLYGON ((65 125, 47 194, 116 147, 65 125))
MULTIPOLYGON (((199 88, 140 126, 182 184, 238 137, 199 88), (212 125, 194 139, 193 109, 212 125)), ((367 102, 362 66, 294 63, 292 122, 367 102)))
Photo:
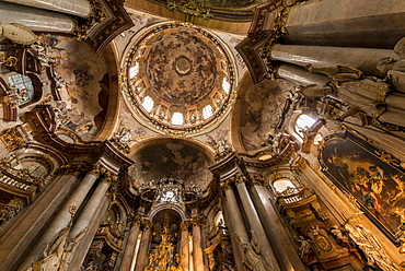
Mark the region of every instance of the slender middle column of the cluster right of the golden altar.
POLYGON ((238 182, 236 189, 238 189, 239 196, 241 197, 242 205, 246 213, 248 224, 251 226, 251 229, 254 231, 257 237, 258 244, 261 246, 261 255, 275 271, 279 271, 280 268, 277 263, 277 259, 267 239, 266 233, 262 226, 262 222, 258 217, 258 214, 253 204, 251 196, 247 192, 243 178, 236 178, 236 182, 238 182))

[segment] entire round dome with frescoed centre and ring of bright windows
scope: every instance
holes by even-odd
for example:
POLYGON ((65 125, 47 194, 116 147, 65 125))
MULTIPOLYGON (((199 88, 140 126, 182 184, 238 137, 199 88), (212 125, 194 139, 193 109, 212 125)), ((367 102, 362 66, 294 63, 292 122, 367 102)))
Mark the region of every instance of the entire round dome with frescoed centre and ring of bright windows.
POLYGON ((233 58, 213 34, 161 23, 137 35, 125 56, 119 82, 125 101, 153 130, 184 137, 219 123, 230 111, 233 58))

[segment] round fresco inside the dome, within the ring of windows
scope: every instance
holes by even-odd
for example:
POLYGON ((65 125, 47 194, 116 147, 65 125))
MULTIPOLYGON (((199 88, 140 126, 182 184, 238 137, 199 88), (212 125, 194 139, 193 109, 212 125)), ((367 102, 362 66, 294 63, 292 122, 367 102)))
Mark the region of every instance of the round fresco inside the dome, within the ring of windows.
POLYGON ((180 108, 207 98, 219 81, 212 46, 189 30, 162 33, 151 46, 146 69, 155 97, 180 108))

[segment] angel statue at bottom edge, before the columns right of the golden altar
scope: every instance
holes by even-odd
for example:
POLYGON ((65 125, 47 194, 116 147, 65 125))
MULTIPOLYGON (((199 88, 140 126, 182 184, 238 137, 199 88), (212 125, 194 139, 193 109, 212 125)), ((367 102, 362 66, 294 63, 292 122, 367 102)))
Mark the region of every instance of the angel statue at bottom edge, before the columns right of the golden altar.
POLYGON ((244 251, 245 261, 243 262, 243 264, 245 264, 248 270, 253 271, 274 271, 274 269, 261 255, 261 246, 258 244, 255 232, 251 229, 251 233, 252 238, 250 244, 243 243, 239 235, 236 233, 233 233, 235 239, 244 251))

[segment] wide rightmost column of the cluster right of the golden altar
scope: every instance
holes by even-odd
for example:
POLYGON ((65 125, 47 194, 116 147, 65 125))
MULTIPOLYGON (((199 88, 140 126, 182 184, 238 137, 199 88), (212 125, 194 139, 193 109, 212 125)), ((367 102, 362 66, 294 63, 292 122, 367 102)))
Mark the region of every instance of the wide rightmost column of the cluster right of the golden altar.
MULTIPOLYGON (((261 179, 263 181, 263 179, 261 179)), ((288 232, 278 210, 270 201, 270 195, 262 182, 256 182, 251 189, 252 199, 264 222, 264 228, 271 236, 271 246, 284 270, 305 271, 300 257, 296 254, 294 240, 288 232)))

